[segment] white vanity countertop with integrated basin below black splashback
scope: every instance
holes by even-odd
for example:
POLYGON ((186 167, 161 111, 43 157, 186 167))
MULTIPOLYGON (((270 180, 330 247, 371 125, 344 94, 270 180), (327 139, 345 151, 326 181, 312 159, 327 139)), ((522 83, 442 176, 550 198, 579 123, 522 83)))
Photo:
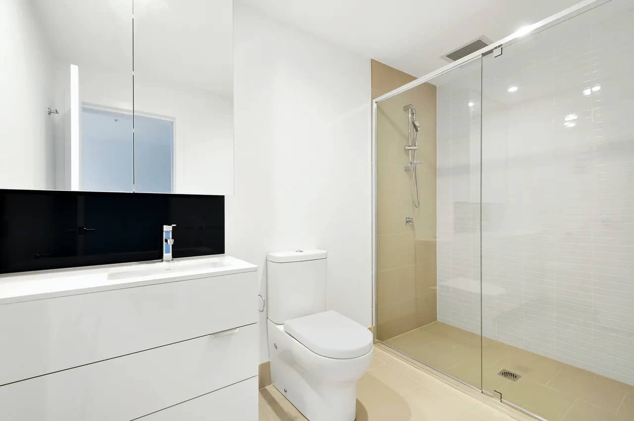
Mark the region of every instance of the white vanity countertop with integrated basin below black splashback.
POLYGON ((0 305, 257 271, 230 256, 188 257, 0 275, 0 305))

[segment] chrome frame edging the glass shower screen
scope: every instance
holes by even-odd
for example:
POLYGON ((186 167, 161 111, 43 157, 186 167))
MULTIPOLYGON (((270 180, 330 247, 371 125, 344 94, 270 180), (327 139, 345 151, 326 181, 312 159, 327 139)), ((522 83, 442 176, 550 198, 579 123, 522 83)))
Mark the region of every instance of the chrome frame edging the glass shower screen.
MULTIPOLYGON (((510 36, 500 39, 500 41, 493 42, 489 46, 479 49, 478 51, 475 51, 474 53, 471 53, 470 55, 467 55, 461 58, 460 60, 456 60, 453 63, 450 63, 441 68, 438 68, 437 70, 429 72, 428 74, 422 77, 419 77, 415 81, 412 81, 408 84, 398 87, 372 100, 372 180, 371 180, 371 183, 372 183, 372 326, 373 326, 373 335, 374 335, 375 342, 380 344, 380 346, 382 347, 387 347, 388 349, 391 350, 392 353, 398 354, 402 358, 413 362, 415 365, 422 366, 423 370, 429 373, 432 373, 432 375, 436 376, 438 379, 443 380, 447 384, 450 384, 453 387, 456 387, 457 389, 461 389, 467 392, 469 391, 477 392, 477 395, 487 396, 488 397, 487 399, 493 398, 496 401, 503 403, 506 408, 508 407, 513 408, 514 410, 520 411, 521 413, 529 415, 530 417, 536 418, 538 420, 543 420, 543 418, 525 410, 524 408, 514 405, 511 402, 498 399, 498 396, 494 396, 493 394, 490 394, 489 392, 484 391, 482 389, 482 384, 480 388, 474 387, 473 385, 467 384, 460 379, 456 379, 456 377, 453 377, 452 375, 448 373, 444 373, 441 370, 438 370, 437 368, 434 368, 429 365, 425 365, 424 362, 417 361, 415 358, 403 353, 403 351, 400 351, 399 349, 389 346, 385 342, 382 342, 377 339, 378 338, 378 326, 377 326, 377 240, 378 240, 378 237, 377 237, 377 232, 378 232, 378 229, 377 229, 378 228, 377 227, 377 105, 378 103, 388 100, 389 98, 392 98, 405 91, 408 91, 409 89, 412 89, 413 87, 424 84, 425 82, 428 82, 441 74, 450 72, 451 70, 454 70, 455 68, 458 68, 474 60, 478 60, 482 58, 482 56, 488 55, 490 53, 501 52, 503 48, 510 46, 521 39, 532 36, 543 30, 549 29, 550 27, 553 27, 561 22, 564 22, 570 18, 573 18, 574 16, 581 15, 581 13, 585 13, 586 11, 592 10, 593 8, 601 6, 602 4, 609 3, 610 1, 611 0, 581 1, 580 3, 574 4, 573 6, 566 8, 560 11, 559 13, 555 13, 554 15, 541 20, 540 22, 530 25, 529 30, 527 32, 525 31, 521 33, 515 32, 514 34, 511 34, 510 36)), ((404 108, 404 110, 407 110, 407 108, 404 108)), ((410 124, 409 130, 411 132, 411 124, 410 124)))

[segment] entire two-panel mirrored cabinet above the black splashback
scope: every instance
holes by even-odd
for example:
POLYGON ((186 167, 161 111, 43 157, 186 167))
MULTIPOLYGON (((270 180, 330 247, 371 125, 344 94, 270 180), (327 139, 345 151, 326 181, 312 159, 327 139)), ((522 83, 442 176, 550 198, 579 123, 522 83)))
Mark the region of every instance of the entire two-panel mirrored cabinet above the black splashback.
POLYGON ((0 36, 0 188, 233 193, 231 0, 4 0, 0 36))

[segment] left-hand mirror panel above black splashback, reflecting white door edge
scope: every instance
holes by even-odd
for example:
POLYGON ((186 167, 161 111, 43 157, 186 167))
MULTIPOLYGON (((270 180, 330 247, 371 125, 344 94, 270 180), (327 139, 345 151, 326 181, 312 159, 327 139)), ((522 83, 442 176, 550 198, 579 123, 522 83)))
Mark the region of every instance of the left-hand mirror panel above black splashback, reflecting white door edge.
POLYGON ((133 191, 131 0, 0 8, 1 186, 133 191))

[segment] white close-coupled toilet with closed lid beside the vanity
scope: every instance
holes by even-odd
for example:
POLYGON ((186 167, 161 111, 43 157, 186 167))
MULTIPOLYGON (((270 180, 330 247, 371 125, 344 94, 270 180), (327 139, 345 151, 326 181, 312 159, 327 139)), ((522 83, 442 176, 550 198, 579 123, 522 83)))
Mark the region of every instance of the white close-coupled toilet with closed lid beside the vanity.
POLYGON ((372 334, 325 311, 326 262, 324 250, 267 256, 271 377, 309 421, 353 421, 356 382, 372 360, 372 334))

